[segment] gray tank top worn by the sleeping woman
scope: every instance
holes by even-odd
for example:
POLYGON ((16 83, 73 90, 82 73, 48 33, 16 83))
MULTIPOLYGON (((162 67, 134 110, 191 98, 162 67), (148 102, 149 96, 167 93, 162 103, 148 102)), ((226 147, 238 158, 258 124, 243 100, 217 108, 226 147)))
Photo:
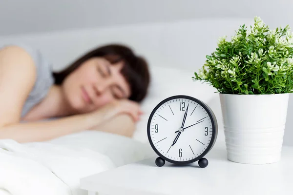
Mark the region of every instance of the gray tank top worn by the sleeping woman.
POLYGON ((42 55, 41 51, 33 48, 24 43, 9 43, 4 44, 3 47, 8 45, 17 45, 23 48, 30 54, 35 62, 37 78, 33 89, 29 96, 26 98, 21 111, 21 117, 24 117, 35 105, 40 103, 49 92, 49 89, 54 84, 52 64, 49 63, 42 55))

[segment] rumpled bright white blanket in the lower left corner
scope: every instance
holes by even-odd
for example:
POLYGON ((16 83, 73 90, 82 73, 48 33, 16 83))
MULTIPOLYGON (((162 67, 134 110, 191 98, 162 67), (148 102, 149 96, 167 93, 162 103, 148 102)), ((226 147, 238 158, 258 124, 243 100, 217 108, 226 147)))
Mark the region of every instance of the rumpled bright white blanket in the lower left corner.
POLYGON ((86 194, 79 190, 80 178, 114 167, 107 156, 88 149, 13 140, 1 140, 0 148, 0 188, 12 195, 86 194))

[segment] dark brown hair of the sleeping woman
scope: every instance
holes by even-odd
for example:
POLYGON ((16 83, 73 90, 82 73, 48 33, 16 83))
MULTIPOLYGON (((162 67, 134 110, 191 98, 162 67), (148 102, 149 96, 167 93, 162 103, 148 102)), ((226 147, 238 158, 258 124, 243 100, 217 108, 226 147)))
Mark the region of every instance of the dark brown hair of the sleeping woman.
POLYGON ((140 102, 146 97, 150 79, 146 60, 141 56, 136 56, 130 48, 118 44, 105 45, 89 51, 63 71, 53 73, 55 84, 61 85, 64 78, 77 69, 84 61, 93 57, 103 57, 109 60, 111 64, 123 60, 125 63, 121 74, 126 78, 130 86, 131 95, 129 99, 140 102))

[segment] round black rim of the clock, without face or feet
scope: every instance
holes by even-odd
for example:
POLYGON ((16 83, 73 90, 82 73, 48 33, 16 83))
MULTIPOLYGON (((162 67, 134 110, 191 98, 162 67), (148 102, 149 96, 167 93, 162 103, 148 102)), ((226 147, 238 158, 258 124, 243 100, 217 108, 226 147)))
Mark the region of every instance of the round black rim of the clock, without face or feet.
POLYGON ((197 160, 203 158, 206 154, 209 153, 209 151, 211 150, 211 148, 213 147, 213 145, 216 142, 216 138, 217 138, 217 134, 218 134, 218 124, 217 124, 217 119, 214 115, 214 113, 211 111, 211 109, 209 108, 209 106, 207 104, 205 104, 203 101, 197 99, 197 98, 193 98, 190 96, 186 96, 186 95, 176 95, 176 96, 171 96, 169 98, 166 98, 164 100, 162 100, 160 103, 158 103, 158 105, 153 109, 153 111, 151 112, 149 118, 148 118, 148 122, 147 122, 147 137, 148 137, 148 141, 152 147, 152 149, 156 152, 156 154, 158 156, 160 156, 161 158, 163 158, 164 160, 174 163, 174 164, 190 164, 193 162, 196 162, 197 160), (209 146, 207 147, 207 149, 200 155, 195 157, 192 160, 188 160, 188 161, 176 161, 176 160, 171 160, 169 158, 167 158, 166 156, 163 156, 154 146, 152 140, 151 140, 151 135, 150 135, 150 123, 151 123, 151 119, 153 117, 153 115, 155 114, 155 112, 159 109, 160 106, 162 106, 164 103, 166 103, 169 100, 172 99, 178 99, 178 98, 185 98, 185 99, 189 99, 191 101, 194 101, 196 103, 198 103, 200 106, 202 106, 208 113, 210 120, 211 120, 211 125, 212 125, 212 136, 211 136, 211 140, 209 142, 209 146))

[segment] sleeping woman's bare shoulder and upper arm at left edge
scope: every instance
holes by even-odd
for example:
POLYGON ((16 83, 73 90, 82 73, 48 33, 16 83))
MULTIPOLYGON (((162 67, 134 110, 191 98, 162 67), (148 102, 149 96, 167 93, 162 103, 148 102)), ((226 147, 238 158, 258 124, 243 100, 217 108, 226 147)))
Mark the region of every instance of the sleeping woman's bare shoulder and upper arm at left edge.
POLYGON ((19 46, 0 50, 0 127, 18 122, 21 109, 36 80, 33 58, 19 46))

